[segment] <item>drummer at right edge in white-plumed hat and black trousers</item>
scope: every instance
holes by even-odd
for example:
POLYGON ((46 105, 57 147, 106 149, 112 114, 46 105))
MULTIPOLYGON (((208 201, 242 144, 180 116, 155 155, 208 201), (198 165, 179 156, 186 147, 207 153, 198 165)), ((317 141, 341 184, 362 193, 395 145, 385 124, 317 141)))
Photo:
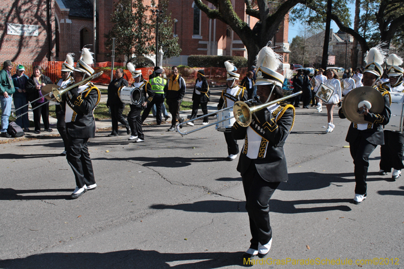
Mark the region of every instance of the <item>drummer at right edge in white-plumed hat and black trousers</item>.
MULTIPOLYGON (((402 74, 404 69, 398 67, 402 64, 402 59, 391 54, 387 59, 387 64, 391 67, 388 70, 389 81, 382 84, 382 87, 390 92, 404 92, 402 74)), ((404 152, 404 134, 384 130, 384 145, 380 149, 380 175, 390 173, 393 168, 391 178, 393 181, 401 175, 402 155, 404 152)))

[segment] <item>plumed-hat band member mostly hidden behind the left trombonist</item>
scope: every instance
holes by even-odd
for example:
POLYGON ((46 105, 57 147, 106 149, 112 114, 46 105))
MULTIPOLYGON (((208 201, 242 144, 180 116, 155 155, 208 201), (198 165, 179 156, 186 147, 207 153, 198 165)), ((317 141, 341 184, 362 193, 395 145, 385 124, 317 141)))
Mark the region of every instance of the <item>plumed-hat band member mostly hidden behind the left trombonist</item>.
MULTIPOLYGON (((62 77, 56 81, 56 84, 62 88, 66 88, 67 85, 74 83, 74 78, 72 77, 74 61, 72 56, 74 56, 74 53, 67 54, 65 62, 62 64, 62 77)), ((58 132, 62 137, 63 144, 65 145, 65 150, 61 153, 61 155, 65 156, 69 139, 66 133, 65 111, 62 109, 62 105, 58 101, 55 102, 55 112, 56 119, 58 120, 56 123, 56 128, 58 129, 58 132)))

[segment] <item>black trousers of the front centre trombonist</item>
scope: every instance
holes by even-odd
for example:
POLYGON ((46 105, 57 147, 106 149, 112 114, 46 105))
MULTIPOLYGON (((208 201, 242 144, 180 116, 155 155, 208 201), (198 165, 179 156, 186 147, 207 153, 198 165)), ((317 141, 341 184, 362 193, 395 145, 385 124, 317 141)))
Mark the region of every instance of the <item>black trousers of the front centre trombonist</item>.
POLYGON ((260 177, 254 160, 242 176, 245 194, 245 209, 248 212, 251 232, 250 248, 258 250, 258 243, 267 244, 272 238, 269 221, 269 200, 280 182, 267 182, 260 177))

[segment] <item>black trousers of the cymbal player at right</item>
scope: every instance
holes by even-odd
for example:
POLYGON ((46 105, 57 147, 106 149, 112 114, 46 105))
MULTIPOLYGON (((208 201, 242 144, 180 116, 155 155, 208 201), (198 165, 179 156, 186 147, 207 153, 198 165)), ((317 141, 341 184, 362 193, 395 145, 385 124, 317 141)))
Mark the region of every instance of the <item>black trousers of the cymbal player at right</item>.
POLYGON ((354 159, 354 174, 355 193, 364 195, 367 190, 366 176, 368 175, 369 168, 369 156, 375 150, 377 145, 374 145, 363 138, 362 135, 358 135, 354 143, 349 143, 349 151, 352 159, 354 159))

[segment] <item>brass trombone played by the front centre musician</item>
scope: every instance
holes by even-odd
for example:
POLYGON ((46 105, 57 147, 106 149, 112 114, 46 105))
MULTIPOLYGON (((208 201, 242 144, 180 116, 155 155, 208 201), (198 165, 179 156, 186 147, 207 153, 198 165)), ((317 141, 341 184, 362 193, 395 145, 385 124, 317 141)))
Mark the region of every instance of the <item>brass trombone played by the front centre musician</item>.
POLYGON ((242 127, 248 127, 248 126, 250 125, 250 123, 251 123, 251 120, 252 120, 252 114, 256 113, 256 112, 259 111, 259 110, 264 109, 265 107, 268 107, 268 106, 270 106, 270 105, 273 105, 273 104, 275 104, 275 103, 277 103, 277 102, 280 102, 280 101, 289 99, 289 98, 291 98, 291 97, 297 96, 297 95, 299 95, 300 93, 302 93, 302 91, 295 92, 295 93, 290 94, 290 95, 288 95, 288 96, 284 96, 284 97, 282 97, 282 98, 273 100, 273 101, 271 101, 271 102, 263 103, 263 104, 260 104, 260 105, 257 105, 257 106, 253 106, 253 107, 249 107, 249 106, 246 104, 246 102, 252 101, 252 100, 254 100, 254 99, 249 99, 249 100, 247 100, 247 101, 245 101, 245 102, 243 102, 243 101, 237 101, 237 102, 234 103, 233 106, 226 107, 225 109, 218 110, 218 111, 209 113, 209 114, 207 114, 207 115, 200 116, 200 117, 198 117, 198 118, 195 118, 195 119, 192 119, 192 120, 189 120, 189 121, 180 123, 180 124, 177 125, 177 131, 178 131, 179 134, 181 134, 181 136, 184 136, 184 135, 187 135, 187 134, 196 132, 196 131, 198 131, 198 130, 200 130, 200 129, 204 129, 204 128, 206 128, 206 127, 209 127, 209 126, 212 126, 212 125, 215 125, 215 124, 218 124, 218 123, 227 121, 227 120, 232 119, 232 118, 236 118, 236 122, 237 122, 239 125, 241 125, 242 127), (182 125, 184 125, 184 124, 186 124, 186 123, 188 123, 188 122, 192 122, 192 121, 195 121, 195 120, 199 120, 199 119, 208 117, 208 116, 210 116, 210 115, 217 114, 218 112, 221 112, 221 111, 224 111, 224 110, 229 110, 229 109, 233 109, 233 116, 231 116, 230 118, 227 118, 227 119, 223 119, 223 120, 220 120, 220 121, 216 121, 216 122, 210 123, 210 124, 208 124, 208 125, 205 125, 205 126, 203 126, 203 127, 199 127, 199 128, 197 128, 197 129, 192 130, 192 131, 189 131, 189 132, 180 132, 180 130, 179 130, 180 128, 182 128, 182 125))

